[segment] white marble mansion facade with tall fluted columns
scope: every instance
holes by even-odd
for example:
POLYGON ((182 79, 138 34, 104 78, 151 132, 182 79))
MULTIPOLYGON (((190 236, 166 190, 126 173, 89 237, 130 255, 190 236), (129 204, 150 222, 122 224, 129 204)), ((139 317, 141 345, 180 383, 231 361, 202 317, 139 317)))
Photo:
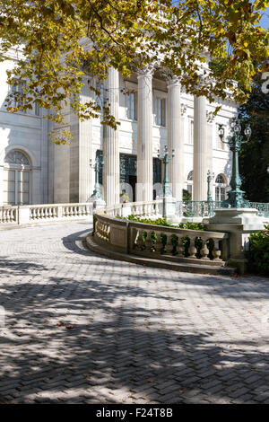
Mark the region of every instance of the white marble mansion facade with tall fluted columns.
MULTIPOLYGON (((6 84, 10 61, 0 64, 0 206, 89 201, 95 172, 91 162, 103 159, 99 181, 108 205, 120 202, 125 189, 129 200, 149 201, 161 195, 163 165, 158 150, 175 150, 169 163, 173 197, 187 189, 194 200, 207 196, 208 170, 213 171, 213 199, 225 198, 230 180, 230 154, 218 136, 220 124, 228 135, 229 119, 237 104, 209 104, 181 90, 177 78, 158 68, 145 69, 126 80, 109 69, 104 84, 96 79, 111 112, 120 122, 117 131, 100 119, 84 122, 65 109, 70 145, 54 145, 45 110, 10 113, 4 99, 13 88, 6 84), (222 106, 213 118, 216 105, 222 106)), ((82 101, 94 95, 85 85, 82 101)), ((98 101, 102 101, 102 95, 98 101)))

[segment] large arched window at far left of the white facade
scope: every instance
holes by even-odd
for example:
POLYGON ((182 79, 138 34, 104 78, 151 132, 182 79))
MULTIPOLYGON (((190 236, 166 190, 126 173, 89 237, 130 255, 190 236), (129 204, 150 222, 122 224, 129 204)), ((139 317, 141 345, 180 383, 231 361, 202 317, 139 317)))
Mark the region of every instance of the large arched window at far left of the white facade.
POLYGON ((4 205, 30 204, 30 159, 13 150, 4 158, 4 205))

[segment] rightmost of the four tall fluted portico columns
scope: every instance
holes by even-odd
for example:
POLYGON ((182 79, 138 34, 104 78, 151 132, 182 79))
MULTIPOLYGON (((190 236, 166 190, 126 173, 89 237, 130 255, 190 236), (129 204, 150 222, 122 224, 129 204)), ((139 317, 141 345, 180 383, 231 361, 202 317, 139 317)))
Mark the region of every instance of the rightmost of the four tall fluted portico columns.
POLYGON ((210 154, 205 97, 194 97, 194 109, 194 200, 201 201, 207 198, 206 173, 210 154))

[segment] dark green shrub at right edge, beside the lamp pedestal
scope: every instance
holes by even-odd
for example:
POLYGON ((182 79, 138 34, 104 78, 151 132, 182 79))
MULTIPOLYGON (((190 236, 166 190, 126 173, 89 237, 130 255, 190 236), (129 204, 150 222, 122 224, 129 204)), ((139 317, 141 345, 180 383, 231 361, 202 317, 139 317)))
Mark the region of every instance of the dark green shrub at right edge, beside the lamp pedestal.
POLYGON ((250 271, 269 276, 269 224, 265 230, 250 234, 248 264, 250 271))

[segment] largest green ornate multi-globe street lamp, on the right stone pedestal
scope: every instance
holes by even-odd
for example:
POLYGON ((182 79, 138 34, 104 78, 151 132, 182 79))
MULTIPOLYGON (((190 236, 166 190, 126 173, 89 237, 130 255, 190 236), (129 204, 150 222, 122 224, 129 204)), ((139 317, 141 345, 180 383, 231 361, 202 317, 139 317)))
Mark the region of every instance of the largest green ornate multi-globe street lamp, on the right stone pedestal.
POLYGON ((228 136, 228 141, 224 141, 224 128, 223 125, 219 127, 219 136, 221 137, 221 142, 228 144, 230 146, 230 151, 232 152, 232 176, 230 179, 230 190, 228 192, 228 199, 225 199, 221 202, 221 207, 231 207, 231 208, 247 208, 249 207, 249 202, 243 198, 244 191, 240 189, 242 181, 239 176, 239 151, 242 144, 245 144, 251 136, 251 128, 249 125, 244 130, 244 134, 247 138, 247 141, 244 140, 244 137, 240 135, 241 125, 239 120, 234 118, 230 120, 231 136, 228 136))

